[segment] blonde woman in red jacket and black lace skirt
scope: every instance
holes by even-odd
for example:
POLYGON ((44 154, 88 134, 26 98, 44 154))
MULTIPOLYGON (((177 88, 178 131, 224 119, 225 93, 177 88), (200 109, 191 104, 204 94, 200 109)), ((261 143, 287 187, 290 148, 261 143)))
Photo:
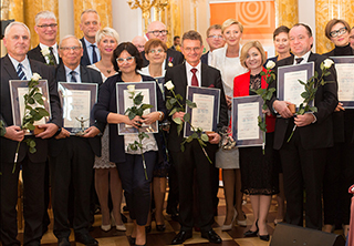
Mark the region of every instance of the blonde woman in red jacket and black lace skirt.
MULTIPOLYGON (((252 90, 266 88, 266 78, 260 73, 267 72, 262 66, 266 62, 266 53, 259 41, 250 41, 242 47, 241 64, 249 69, 249 72, 238 75, 233 80, 233 96, 254 95, 252 90)), ((267 215, 270 207, 271 196, 279 193, 278 174, 273 163, 273 132, 275 117, 266 112, 266 153, 261 146, 240 147, 240 170, 242 192, 250 195, 254 215, 254 222, 244 236, 257 236, 260 239, 269 240, 267 230, 267 215)))

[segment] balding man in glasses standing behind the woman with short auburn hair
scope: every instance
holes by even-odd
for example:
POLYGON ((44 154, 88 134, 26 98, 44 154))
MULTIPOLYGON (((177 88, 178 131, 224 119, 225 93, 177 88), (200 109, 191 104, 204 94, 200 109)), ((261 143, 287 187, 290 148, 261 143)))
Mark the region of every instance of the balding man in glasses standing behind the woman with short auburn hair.
MULTIPOLYGON (((168 31, 166 30, 166 25, 163 22, 153 21, 147 27, 146 37, 149 40, 150 39, 159 39, 164 43, 166 43, 167 33, 168 33, 168 31)), ((145 58, 145 51, 142 52, 142 55, 143 55, 143 59, 144 59, 143 66, 147 66, 149 62, 145 58)), ((174 65, 178 65, 178 64, 180 64, 183 62, 184 62, 184 55, 180 52, 175 51, 175 50, 173 50, 170 48, 167 49, 167 55, 166 55, 165 65, 164 65, 164 68, 166 70, 169 69, 169 68, 173 68, 174 65)))

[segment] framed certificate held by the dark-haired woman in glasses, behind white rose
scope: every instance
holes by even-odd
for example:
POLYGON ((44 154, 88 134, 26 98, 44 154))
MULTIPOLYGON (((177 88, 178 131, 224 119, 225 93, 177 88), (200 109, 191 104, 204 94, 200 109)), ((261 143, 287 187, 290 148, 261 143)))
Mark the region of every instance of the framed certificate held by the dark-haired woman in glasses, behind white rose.
MULTIPOLYGON (((144 95, 143 103, 153 105, 152 109, 144 111, 144 114, 148 114, 157 111, 157 100, 156 100, 156 82, 155 81, 144 81, 144 82, 118 82, 116 83, 116 93, 117 93, 117 113, 125 114, 128 107, 133 106, 133 100, 129 99, 131 93, 128 93, 127 85, 135 85, 135 95, 142 92, 144 95)), ((124 123, 118 124, 118 134, 138 134, 138 130, 132 125, 126 125, 124 123)), ((157 133, 158 132, 158 122, 154 122, 150 125, 143 124, 140 132, 147 133, 157 133)))

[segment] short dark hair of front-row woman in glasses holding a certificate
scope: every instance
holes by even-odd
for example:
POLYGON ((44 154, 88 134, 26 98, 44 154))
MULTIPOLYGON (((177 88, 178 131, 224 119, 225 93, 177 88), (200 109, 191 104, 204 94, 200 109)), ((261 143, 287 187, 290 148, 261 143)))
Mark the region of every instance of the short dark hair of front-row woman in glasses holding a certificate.
POLYGON ((143 68, 143 58, 142 58, 140 52, 137 50, 137 48, 132 42, 123 42, 119 45, 117 45, 117 48, 115 48, 115 50, 113 51, 113 55, 112 55, 111 61, 114 66, 114 70, 116 72, 119 72, 119 66, 118 66, 118 63, 116 60, 117 60, 117 58, 119 58, 119 55, 123 51, 126 51, 132 57, 134 57, 135 62, 136 62, 135 72, 138 73, 137 71, 143 68))

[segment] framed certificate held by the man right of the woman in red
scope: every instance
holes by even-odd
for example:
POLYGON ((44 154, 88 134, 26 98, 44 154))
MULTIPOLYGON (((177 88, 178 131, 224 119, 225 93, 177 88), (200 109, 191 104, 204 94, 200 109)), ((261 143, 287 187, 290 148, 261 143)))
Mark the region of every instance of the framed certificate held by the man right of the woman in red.
MULTIPOLYGON (((296 110, 303 103, 301 93, 305 91, 299 80, 304 83, 314 74, 314 62, 278 68, 278 99, 295 104, 296 110)), ((311 102, 313 104, 313 102, 311 102)))

